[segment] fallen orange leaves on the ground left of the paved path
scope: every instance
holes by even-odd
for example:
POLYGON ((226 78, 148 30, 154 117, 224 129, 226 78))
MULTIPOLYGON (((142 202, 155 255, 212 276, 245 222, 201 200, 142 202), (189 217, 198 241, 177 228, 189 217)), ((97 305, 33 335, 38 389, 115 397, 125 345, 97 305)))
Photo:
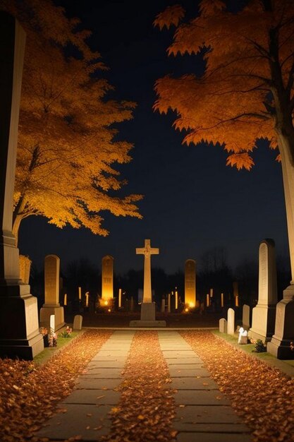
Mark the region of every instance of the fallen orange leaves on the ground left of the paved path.
POLYGON ((0 441, 18 442, 33 437, 56 411, 78 376, 111 335, 107 330, 88 330, 49 362, 0 359, 0 441))

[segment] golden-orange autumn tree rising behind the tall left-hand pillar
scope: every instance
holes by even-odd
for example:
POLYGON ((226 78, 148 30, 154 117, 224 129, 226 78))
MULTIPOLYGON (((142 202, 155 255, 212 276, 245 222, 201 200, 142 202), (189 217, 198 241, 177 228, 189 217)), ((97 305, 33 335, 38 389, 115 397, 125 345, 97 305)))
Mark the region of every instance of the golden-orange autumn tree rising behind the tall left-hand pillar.
POLYGON ((115 124, 132 102, 107 98, 105 66, 87 46, 90 32, 51 0, 2 0, 27 33, 20 103, 13 233, 30 215, 57 227, 106 235, 102 213, 140 217, 141 196, 121 196, 118 164, 131 160, 115 124))

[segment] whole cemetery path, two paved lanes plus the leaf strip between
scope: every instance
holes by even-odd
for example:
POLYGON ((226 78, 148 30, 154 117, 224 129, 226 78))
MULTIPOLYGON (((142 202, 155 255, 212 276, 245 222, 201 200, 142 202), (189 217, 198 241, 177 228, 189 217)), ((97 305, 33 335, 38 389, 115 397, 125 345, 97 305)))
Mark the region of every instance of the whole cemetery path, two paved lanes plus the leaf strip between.
POLYGON ((176 330, 114 331, 61 407, 66 412, 52 417, 36 440, 252 441, 176 330))

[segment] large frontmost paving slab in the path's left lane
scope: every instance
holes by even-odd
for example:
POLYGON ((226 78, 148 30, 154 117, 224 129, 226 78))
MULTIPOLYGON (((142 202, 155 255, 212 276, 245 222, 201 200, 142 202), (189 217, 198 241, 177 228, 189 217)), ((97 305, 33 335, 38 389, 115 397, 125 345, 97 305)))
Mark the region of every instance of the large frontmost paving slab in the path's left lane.
POLYGON ((80 435, 84 441, 97 441, 109 433, 111 420, 106 416, 111 405, 66 404, 64 408, 67 412, 55 414, 36 436, 60 440, 80 435))

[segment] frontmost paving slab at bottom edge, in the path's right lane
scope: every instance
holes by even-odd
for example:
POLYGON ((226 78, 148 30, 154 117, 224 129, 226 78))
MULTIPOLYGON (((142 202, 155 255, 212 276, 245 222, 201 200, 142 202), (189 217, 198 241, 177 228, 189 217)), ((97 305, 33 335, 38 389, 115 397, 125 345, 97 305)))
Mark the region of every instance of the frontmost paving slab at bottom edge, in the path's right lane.
POLYGON ((178 442, 252 442, 249 434, 235 433, 179 433, 178 442))

